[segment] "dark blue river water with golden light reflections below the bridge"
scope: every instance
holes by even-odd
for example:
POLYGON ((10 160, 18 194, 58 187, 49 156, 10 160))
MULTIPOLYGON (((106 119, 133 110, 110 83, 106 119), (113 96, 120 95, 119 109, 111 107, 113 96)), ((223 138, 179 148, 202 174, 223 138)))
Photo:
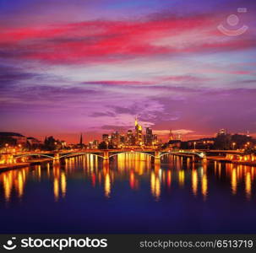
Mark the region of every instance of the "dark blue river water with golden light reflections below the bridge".
POLYGON ((0 233, 256 233, 255 168, 90 155, 0 174, 0 233))

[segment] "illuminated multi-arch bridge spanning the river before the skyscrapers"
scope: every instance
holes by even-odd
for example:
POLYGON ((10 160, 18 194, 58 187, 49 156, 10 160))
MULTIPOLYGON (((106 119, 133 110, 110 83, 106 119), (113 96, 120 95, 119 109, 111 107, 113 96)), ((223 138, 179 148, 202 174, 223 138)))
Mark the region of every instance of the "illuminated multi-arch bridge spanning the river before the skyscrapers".
POLYGON ((145 149, 136 149, 136 150, 126 150, 126 149, 80 149, 73 151, 59 151, 59 152, 39 152, 39 153, 17 153, 11 155, 12 157, 8 157, 8 159, 21 159, 25 157, 42 157, 52 160, 70 158, 79 155, 91 154, 101 159, 111 159, 112 157, 117 156, 120 153, 133 153, 133 154, 144 154, 155 160, 161 159, 162 157, 172 154, 182 157, 190 157, 193 160, 195 158, 204 159, 206 158, 206 154, 204 152, 195 151, 195 150, 145 150, 145 149))

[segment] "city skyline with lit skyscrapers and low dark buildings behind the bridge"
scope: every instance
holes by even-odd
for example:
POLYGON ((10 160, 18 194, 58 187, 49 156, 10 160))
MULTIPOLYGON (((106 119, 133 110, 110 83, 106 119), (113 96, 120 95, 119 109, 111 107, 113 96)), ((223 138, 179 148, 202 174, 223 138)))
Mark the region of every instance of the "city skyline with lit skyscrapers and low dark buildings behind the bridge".
MULTIPOLYGON (((46 135, 44 137, 38 138, 32 135, 23 135, 21 132, 0 132, 0 136, 6 136, 6 137, 12 137, 12 136, 17 136, 17 137, 25 137, 26 139, 31 139, 32 142, 34 141, 35 143, 43 143, 46 141, 47 137, 57 137, 57 141, 60 143, 66 143, 67 144, 89 144, 92 146, 97 146, 98 148, 99 143, 105 142, 105 143, 112 143, 114 142, 114 145, 118 146, 119 143, 126 143, 132 146, 141 146, 141 145, 148 145, 148 146, 154 146, 154 145, 161 145, 162 143, 168 143, 169 141, 183 141, 183 142, 191 142, 191 141, 201 141, 204 139, 210 139, 217 137, 218 135, 240 135, 244 137, 252 137, 254 138, 254 135, 252 135, 249 131, 247 132, 229 132, 228 129, 226 128, 220 128, 217 132, 215 132, 211 136, 202 136, 200 135, 199 137, 193 138, 188 135, 187 132, 182 132, 182 130, 174 130, 174 129, 169 129, 165 131, 166 133, 162 133, 159 131, 155 131, 154 128, 150 126, 141 126, 138 116, 135 116, 134 118, 134 124, 133 127, 127 127, 124 128, 119 132, 119 130, 115 129, 113 131, 105 131, 105 132, 99 132, 99 135, 97 137, 90 137, 87 135, 86 132, 80 132, 76 133, 75 141, 74 142, 69 142, 66 139, 63 138, 58 138, 57 135, 53 136, 53 134, 46 135), (135 126, 135 127, 134 127, 135 126), (122 141, 123 138, 123 141, 122 141), (117 140, 119 139, 119 141, 117 140), (96 144, 95 144, 96 143, 96 144)), ((21 143, 26 143, 26 140, 23 139, 21 143)))

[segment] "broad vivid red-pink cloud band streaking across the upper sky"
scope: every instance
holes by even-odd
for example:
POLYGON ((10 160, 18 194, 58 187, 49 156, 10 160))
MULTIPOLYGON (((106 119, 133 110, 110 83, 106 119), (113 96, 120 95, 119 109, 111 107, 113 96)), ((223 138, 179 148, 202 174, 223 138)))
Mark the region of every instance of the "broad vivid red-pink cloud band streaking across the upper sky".
POLYGON ((7 56, 63 64, 117 62, 133 57, 180 52, 235 50, 253 46, 255 40, 211 40, 213 17, 87 21, 40 28, 13 29, 0 35, 7 56), (195 34, 191 37, 191 30, 195 34), (178 37, 178 40, 176 38, 178 37), (163 39, 173 40, 161 45, 163 39), (186 41, 181 46, 180 42, 186 41), (199 38, 201 40, 199 40, 199 38), (189 40, 188 40, 189 39, 189 40))

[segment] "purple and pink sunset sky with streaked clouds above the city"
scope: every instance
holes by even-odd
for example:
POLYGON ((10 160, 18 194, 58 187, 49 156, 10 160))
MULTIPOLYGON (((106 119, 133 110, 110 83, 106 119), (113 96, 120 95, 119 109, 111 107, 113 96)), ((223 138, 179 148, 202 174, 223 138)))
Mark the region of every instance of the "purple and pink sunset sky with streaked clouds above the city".
POLYGON ((88 142, 138 116, 164 139, 256 135, 255 16, 254 0, 0 0, 0 131, 88 142))

